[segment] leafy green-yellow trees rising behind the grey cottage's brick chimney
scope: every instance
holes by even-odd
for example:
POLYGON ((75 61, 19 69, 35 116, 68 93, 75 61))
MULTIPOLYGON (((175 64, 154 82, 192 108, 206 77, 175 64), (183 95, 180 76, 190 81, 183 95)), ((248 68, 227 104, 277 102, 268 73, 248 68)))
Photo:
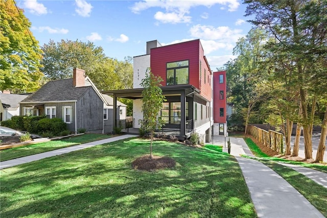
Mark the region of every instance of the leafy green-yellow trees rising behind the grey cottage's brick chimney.
POLYGON ((42 71, 49 79, 71 78, 73 69, 85 70, 99 90, 131 89, 133 68, 131 58, 118 61, 106 57, 102 47, 93 42, 50 40, 42 46, 42 71), (123 78, 122 78, 123 77, 123 78))

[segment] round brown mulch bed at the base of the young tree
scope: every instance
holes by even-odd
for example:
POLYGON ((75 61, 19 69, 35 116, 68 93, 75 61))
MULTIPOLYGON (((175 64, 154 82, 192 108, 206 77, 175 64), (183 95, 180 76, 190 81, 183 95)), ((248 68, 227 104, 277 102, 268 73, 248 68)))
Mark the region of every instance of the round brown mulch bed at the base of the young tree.
POLYGON ((153 171, 162 168, 172 168, 176 165, 176 161, 170 157, 160 157, 152 155, 145 155, 137 158, 132 162, 132 167, 139 170, 153 171))

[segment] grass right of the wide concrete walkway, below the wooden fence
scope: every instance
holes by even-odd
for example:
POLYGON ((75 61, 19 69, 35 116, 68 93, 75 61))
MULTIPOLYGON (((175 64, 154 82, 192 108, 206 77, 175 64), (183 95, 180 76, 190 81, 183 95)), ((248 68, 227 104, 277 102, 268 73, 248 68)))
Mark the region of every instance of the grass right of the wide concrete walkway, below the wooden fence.
MULTIPOLYGON (((246 138, 245 142, 256 157, 264 156, 261 154, 263 153, 261 149, 256 146, 256 144, 250 138, 246 138), (256 154, 259 155, 257 156, 256 154)), ((305 197, 314 207, 316 207, 324 216, 327 217, 327 188, 317 184, 302 173, 299 173, 290 167, 278 164, 278 162, 298 164, 303 167, 313 168, 322 172, 327 172, 327 166, 288 161, 285 159, 273 157, 264 157, 256 160, 264 163, 276 173, 278 173, 279 176, 283 177, 296 190, 298 190, 303 195, 303 197, 305 197)))

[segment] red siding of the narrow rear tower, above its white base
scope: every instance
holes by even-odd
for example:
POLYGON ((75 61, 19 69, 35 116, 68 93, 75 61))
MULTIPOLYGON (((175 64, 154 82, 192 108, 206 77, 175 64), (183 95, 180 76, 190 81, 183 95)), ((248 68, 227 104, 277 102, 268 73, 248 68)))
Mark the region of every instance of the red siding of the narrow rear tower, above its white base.
POLYGON ((214 122, 226 123, 226 71, 214 72, 214 122), (219 83, 219 75, 223 75, 224 82, 219 83), (220 91, 224 91, 223 99, 219 98, 220 91), (224 108, 224 116, 220 116, 220 108, 224 108))

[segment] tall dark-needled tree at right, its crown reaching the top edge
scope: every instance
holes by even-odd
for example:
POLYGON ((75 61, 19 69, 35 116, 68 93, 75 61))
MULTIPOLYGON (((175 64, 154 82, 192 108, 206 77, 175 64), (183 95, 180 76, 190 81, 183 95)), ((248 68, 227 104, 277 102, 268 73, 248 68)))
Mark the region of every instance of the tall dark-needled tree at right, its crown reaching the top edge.
POLYGON ((312 62, 326 55, 327 2, 245 0, 245 3, 248 4, 246 15, 254 15, 251 23, 265 28, 275 39, 270 43, 271 51, 281 60, 287 56, 294 64, 295 72, 291 76, 301 101, 305 158, 311 159, 314 107, 311 112, 308 110, 308 92, 310 86, 314 86, 312 77, 316 75, 312 62))

